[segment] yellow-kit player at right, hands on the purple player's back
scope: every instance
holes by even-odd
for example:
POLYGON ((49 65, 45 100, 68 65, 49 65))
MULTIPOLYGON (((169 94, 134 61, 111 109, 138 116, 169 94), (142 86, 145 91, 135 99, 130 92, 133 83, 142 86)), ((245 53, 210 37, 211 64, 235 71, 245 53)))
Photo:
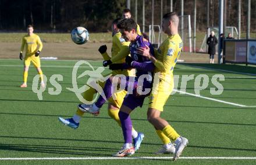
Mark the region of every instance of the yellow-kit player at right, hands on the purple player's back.
POLYGON ((169 123, 160 117, 167 99, 172 93, 173 69, 182 51, 182 39, 178 34, 179 17, 175 12, 166 13, 163 16, 162 30, 168 34, 168 38, 162 42, 158 50, 155 50, 155 58, 150 55, 149 48, 138 48, 137 51, 149 58, 155 64, 154 84, 149 99, 148 121, 154 125, 160 135, 166 135, 175 142, 175 155, 173 160, 179 158, 189 141, 181 137, 169 123))

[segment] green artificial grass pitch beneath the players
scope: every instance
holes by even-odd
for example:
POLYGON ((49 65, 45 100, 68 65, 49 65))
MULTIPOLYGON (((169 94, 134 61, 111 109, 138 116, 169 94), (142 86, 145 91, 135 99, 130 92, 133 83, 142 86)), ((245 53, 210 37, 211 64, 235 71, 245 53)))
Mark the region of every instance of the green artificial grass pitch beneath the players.
MULTIPOLYGON (((76 95, 66 89, 72 88, 72 69, 76 62, 41 61, 42 71, 48 81, 47 88, 42 94, 43 99, 39 101, 37 94, 31 89, 33 77, 37 74, 34 67, 31 66, 29 70, 28 87, 20 88, 23 80, 23 62, 0 60, 0 164, 256 164, 256 107, 250 107, 256 106, 256 67, 234 64, 177 64, 174 74, 180 76, 179 81, 184 74, 207 74, 209 85, 200 94, 206 98, 216 99, 212 101, 178 92, 168 99, 162 117, 168 120, 179 134, 189 139, 189 145, 182 154, 184 159, 178 159, 177 162, 170 161, 172 155, 153 154, 161 147, 161 141, 154 127, 147 121, 148 99, 145 99, 142 108, 137 108, 131 114, 134 128, 145 135, 140 150, 131 158, 152 159, 2 160, 7 157, 111 158, 112 154, 122 147, 122 131, 108 116, 106 104, 98 117, 85 114, 77 130, 58 121, 58 116, 72 117, 79 103, 76 95), (53 74, 63 76, 63 81, 58 81, 62 87, 59 95, 48 93, 48 88, 56 89, 49 83, 49 78, 53 74), (225 81, 219 81, 223 85, 221 95, 210 94, 210 88, 215 87, 211 83, 211 77, 215 74, 225 76, 225 81)), ((93 66, 101 66, 99 61, 90 63, 93 66)), ((86 69, 80 68, 79 73, 86 69)), ((109 70, 105 71, 107 72, 109 70)), ((86 83, 86 78, 79 78, 77 82, 81 87, 86 83)), ((194 80, 188 81, 186 92, 194 94, 194 80)))

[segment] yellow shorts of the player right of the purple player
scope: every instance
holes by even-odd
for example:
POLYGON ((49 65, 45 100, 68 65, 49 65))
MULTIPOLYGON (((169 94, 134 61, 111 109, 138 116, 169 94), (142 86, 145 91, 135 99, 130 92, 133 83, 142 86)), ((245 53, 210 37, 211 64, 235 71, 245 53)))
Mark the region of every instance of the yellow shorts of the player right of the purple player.
POLYGON ((165 84, 164 82, 159 83, 157 89, 152 89, 152 92, 149 97, 148 107, 157 109, 159 111, 163 111, 163 106, 167 99, 169 98, 170 94, 173 90, 173 81, 171 83, 165 84), (164 85, 165 84, 165 85, 164 85))

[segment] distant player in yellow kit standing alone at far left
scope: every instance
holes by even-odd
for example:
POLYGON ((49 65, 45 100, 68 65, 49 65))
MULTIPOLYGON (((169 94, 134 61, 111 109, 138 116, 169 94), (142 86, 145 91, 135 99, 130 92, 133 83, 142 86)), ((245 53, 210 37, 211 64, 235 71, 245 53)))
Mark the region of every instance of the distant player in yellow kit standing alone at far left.
POLYGON ((40 40, 40 37, 37 34, 34 34, 33 31, 33 26, 27 26, 28 34, 22 38, 22 46, 20 48, 20 60, 23 59, 24 48, 26 50, 24 58, 23 84, 20 85, 20 87, 22 88, 27 87, 27 75, 30 62, 34 64, 34 67, 37 69, 37 72, 40 75, 41 86, 45 87, 39 58, 40 52, 42 51, 42 42, 40 40))

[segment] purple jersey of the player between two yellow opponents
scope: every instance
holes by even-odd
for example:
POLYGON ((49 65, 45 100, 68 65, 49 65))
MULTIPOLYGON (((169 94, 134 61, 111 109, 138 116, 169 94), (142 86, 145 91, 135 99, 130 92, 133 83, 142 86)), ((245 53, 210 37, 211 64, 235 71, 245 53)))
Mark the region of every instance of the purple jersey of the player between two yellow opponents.
POLYGON ((130 54, 133 59, 131 66, 136 68, 136 77, 140 77, 143 74, 149 74, 152 76, 152 71, 155 68, 154 63, 152 63, 151 60, 137 53, 136 49, 138 47, 145 48, 146 45, 150 47, 151 55, 154 55, 154 47, 141 35, 138 35, 136 40, 130 43, 130 54))

